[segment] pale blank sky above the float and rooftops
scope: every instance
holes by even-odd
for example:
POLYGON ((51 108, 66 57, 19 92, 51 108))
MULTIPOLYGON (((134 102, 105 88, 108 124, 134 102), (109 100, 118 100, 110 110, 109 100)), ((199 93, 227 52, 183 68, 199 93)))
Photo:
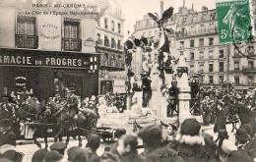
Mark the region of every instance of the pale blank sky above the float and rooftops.
MULTIPOLYGON (((124 35, 127 35, 127 30, 134 30, 135 22, 141 20, 148 12, 160 12, 160 0, 111 0, 121 6, 124 16, 124 35)), ((201 7, 207 6, 209 9, 216 7, 216 0, 184 0, 185 6, 188 8, 194 4, 194 9, 201 11, 201 7)), ((164 9, 169 6, 174 7, 174 13, 178 11, 178 7, 183 5, 183 0, 163 0, 164 9)))

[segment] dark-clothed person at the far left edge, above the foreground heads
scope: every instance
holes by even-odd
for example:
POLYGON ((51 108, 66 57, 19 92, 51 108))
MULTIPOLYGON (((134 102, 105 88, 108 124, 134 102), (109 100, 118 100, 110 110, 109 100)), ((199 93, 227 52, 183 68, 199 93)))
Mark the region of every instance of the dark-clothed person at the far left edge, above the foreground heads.
POLYGON ((4 144, 16 145, 16 135, 11 130, 11 122, 8 119, 0 121, 0 146, 4 144))

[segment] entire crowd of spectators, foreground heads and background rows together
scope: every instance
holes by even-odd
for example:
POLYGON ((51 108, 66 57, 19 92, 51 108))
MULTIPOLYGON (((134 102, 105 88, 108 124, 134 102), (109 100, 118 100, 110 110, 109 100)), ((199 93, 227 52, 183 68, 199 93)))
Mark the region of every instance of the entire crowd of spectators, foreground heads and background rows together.
MULTIPOLYGON (((193 114, 203 115, 203 124, 215 124, 214 135, 209 135, 202 130, 202 124, 196 119, 186 119, 179 129, 172 125, 160 124, 146 128, 140 128, 132 135, 122 135, 112 145, 105 146, 102 154, 97 154, 96 150, 100 146, 101 137, 98 134, 87 136, 87 145, 82 147, 70 147, 63 142, 55 142, 50 149, 39 149, 32 155, 34 162, 57 162, 68 159, 71 162, 163 162, 163 161, 243 161, 252 162, 256 160, 256 130, 255 115, 255 89, 249 91, 237 91, 230 83, 222 86, 199 86, 195 93, 195 100, 191 104, 193 114), (244 111, 243 117, 239 117, 239 109, 244 111), (222 114, 224 112, 224 114, 222 114), (248 114, 249 113, 249 114, 248 114), (220 115, 221 114, 221 115, 220 115), (235 128, 233 133, 229 133, 225 125, 225 120, 238 121, 239 128, 235 128), (251 120, 252 119, 252 120, 251 120), (220 123, 220 121, 221 123, 220 123), (222 120, 224 122, 222 123, 222 120), (248 122, 247 122, 248 121, 248 122), (234 134, 235 141, 228 137, 234 134)), ((105 113, 119 113, 117 103, 113 94, 105 96, 91 96, 81 102, 77 96, 70 91, 66 99, 56 94, 50 97, 45 103, 45 110, 53 103, 60 105, 74 106, 83 112, 85 109, 96 110, 99 117, 105 113), (72 101, 69 101, 69 99, 72 101)), ((40 109, 39 102, 34 96, 29 96, 20 105, 33 105, 35 109, 40 109), (25 104, 26 103, 26 104, 25 104)), ((18 103, 3 96, 2 109, 8 110, 12 118, 16 117, 18 103)), ((4 119, 4 118, 1 118, 4 119)), ((16 135, 13 133, 10 119, 0 120, 0 161, 22 161, 24 153, 16 148, 16 135)))

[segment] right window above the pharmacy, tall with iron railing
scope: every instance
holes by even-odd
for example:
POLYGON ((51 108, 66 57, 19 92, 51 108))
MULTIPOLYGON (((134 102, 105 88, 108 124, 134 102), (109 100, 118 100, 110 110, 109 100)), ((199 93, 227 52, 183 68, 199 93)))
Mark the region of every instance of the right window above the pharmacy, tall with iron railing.
POLYGON ((64 38, 63 48, 67 51, 80 51, 81 41, 79 39, 79 21, 65 20, 64 21, 64 38))

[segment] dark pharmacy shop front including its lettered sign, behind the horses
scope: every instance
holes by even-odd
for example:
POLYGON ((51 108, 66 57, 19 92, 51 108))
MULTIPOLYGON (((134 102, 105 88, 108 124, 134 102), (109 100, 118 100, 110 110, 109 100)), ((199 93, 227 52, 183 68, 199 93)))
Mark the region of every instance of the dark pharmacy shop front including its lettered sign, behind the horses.
POLYGON ((0 94, 26 92, 45 100, 71 84, 82 98, 98 93, 99 55, 0 49, 0 94))

